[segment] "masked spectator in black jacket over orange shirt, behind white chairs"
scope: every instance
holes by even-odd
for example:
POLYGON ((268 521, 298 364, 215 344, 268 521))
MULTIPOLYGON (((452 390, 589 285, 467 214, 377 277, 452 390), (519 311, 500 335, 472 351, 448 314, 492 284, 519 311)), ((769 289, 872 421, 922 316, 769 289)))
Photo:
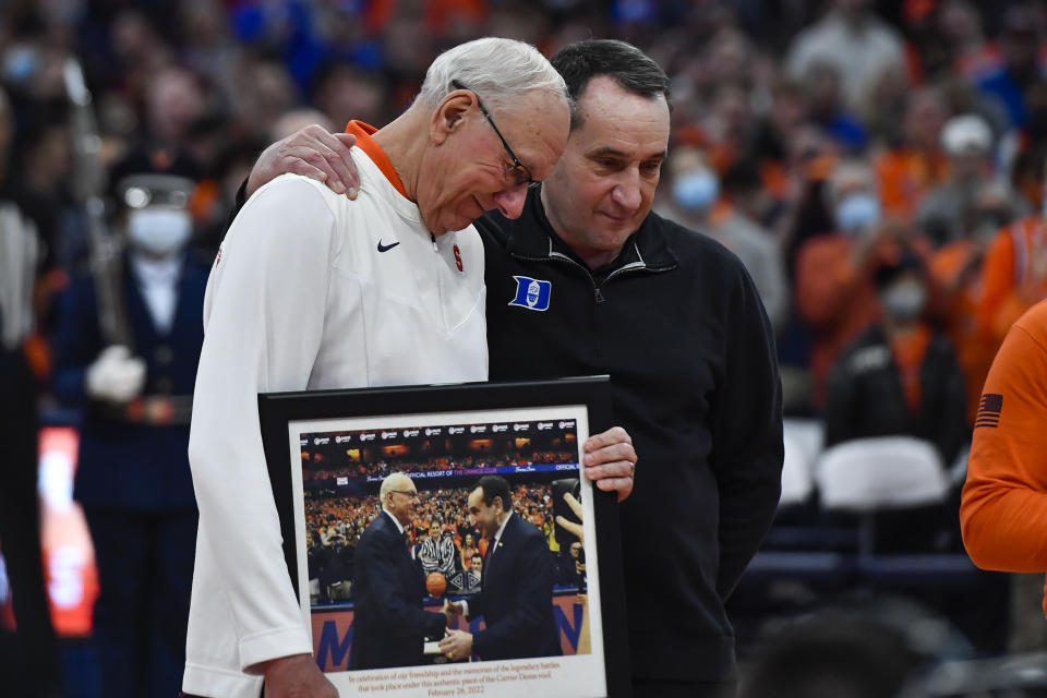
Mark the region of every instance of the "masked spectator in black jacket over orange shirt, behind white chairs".
POLYGON ((874 275, 882 320, 840 356, 829 378, 826 445, 915 436, 952 462, 966 436, 963 374, 949 339, 924 318, 927 280, 912 252, 874 275))

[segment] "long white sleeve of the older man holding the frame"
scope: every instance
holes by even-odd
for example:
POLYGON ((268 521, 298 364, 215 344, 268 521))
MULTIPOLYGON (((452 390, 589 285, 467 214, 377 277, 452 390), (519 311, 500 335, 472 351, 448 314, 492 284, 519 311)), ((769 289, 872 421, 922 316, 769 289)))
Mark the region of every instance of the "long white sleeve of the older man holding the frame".
POLYGON ((241 670, 312 652, 291 587, 262 449, 257 394, 304 389, 317 349, 335 217, 285 176, 240 212, 208 282, 189 458, 200 531, 214 552, 241 670))

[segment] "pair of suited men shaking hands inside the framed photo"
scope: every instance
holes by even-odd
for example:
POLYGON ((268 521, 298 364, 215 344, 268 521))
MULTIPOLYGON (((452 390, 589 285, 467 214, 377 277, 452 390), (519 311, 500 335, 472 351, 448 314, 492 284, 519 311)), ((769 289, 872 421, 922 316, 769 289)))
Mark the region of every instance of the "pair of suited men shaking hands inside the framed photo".
POLYGON ((353 670, 425 663, 425 638, 440 639, 450 661, 561 654, 553 616, 553 557, 542 532, 513 514, 508 483, 485 476, 469 493, 469 515, 490 541, 479 594, 445 601, 438 613, 422 609, 425 583, 405 542, 414 517, 418 491, 410 478, 394 473, 382 483, 383 512, 357 547, 353 670), (482 615, 476 635, 458 629, 459 618, 482 615))

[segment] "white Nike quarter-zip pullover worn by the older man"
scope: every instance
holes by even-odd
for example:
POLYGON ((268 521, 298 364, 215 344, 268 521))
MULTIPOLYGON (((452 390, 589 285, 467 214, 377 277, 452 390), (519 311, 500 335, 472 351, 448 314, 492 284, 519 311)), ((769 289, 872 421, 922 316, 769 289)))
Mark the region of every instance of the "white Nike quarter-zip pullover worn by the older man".
POLYGON ((256 698, 245 670, 312 652, 284 562, 257 394, 483 381, 483 249, 431 237, 359 147, 356 201, 285 174, 231 226, 204 302, 190 462, 200 507, 183 690, 256 698))

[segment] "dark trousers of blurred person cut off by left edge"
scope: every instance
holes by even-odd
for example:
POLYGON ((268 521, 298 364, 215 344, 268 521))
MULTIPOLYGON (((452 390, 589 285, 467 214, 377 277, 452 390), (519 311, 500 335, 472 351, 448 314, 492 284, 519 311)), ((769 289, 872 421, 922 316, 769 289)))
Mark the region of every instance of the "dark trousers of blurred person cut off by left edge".
POLYGON ((12 695, 57 695, 61 686, 58 642, 51 626, 40 558, 40 510, 36 494, 36 386, 21 352, 0 348, 0 547, 11 582, 17 634, 17 666, 0 674, 12 695), (20 688, 17 682, 27 685, 20 688))

